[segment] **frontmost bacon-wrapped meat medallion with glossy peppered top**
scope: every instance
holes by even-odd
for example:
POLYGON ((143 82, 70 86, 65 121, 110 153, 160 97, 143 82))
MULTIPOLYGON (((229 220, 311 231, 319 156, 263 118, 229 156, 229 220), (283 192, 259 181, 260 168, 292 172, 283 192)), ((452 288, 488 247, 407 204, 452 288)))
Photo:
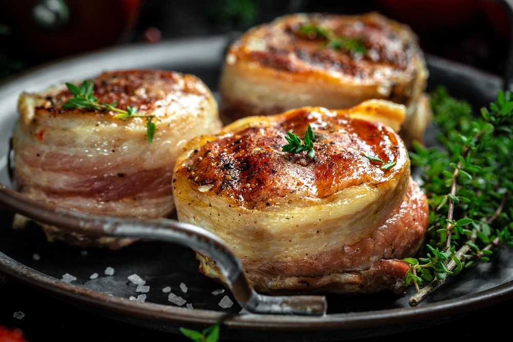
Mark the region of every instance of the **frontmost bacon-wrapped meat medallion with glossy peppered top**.
POLYGON ((402 139, 352 112, 304 107, 193 139, 174 172, 179 220, 223 238, 260 292, 400 293, 408 266, 395 259, 419 249, 426 197, 402 139), (282 152, 286 132, 303 136, 308 125, 315 158, 282 152), (383 169, 369 156, 396 164, 383 169))

